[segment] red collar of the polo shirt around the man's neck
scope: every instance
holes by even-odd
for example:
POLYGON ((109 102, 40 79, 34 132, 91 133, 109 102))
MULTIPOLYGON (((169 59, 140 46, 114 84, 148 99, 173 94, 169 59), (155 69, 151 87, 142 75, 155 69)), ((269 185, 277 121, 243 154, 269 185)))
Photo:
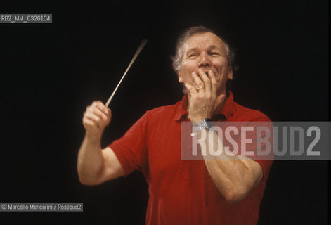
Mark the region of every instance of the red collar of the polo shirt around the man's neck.
MULTIPOLYGON (((186 110, 188 107, 188 95, 186 94, 183 96, 183 99, 181 102, 179 102, 179 105, 176 107, 176 115, 175 120, 181 121, 181 120, 187 120, 188 111, 186 110)), ((228 120, 229 117, 231 117, 235 113, 235 102, 233 101, 233 94, 231 91, 228 91, 228 99, 226 100, 226 103, 224 104, 223 108, 217 115, 223 115, 226 120, 228 120)))

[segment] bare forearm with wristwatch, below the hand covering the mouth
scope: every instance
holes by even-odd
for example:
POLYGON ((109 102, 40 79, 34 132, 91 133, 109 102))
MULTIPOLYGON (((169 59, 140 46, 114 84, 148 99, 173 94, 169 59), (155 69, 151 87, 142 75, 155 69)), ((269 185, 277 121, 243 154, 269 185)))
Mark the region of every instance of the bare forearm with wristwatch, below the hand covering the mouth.
POLYGON ((231 155, 226 153, 219 136, 214 131, 206 132, 205 138, 205 165, 212 177, 214 184, 226 200, 231 203, 245 198, 249 191, 261 180, 261 168, 253 160, 242 155, 231 155), (209 136, 212 135, 212 145, 209 146, 209 136), (221 154, 214 156, 209 152, 219 149, 221 154))

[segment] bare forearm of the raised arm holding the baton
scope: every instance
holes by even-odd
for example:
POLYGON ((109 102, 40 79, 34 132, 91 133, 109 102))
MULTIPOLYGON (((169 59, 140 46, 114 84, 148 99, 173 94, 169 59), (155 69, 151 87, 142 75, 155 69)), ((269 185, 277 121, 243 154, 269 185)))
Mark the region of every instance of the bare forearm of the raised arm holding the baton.
POLYGON ((77 171, 82 184, 98 184, 103 172, 104 162, 100 139, 92 139, 85 135, 79 148, 77 171))

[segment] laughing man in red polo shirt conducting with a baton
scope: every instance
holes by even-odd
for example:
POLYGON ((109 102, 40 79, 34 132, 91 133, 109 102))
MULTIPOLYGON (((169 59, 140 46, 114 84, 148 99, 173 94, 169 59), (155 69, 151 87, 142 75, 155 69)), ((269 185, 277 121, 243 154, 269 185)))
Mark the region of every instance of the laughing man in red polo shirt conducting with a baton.
POLYGON ((100 140, 111 111, 100 101, 86 108, 86 135, 77 163, 80 181, 96 185, 141 170, 149 185, 147 224, 257 224, 272 161, 226 154, 214 160, 181 160, 181 122, 190 121, 202 128, 198 136, 205 132, 217 140, 204 126, 210 119, 268 117, 233 101, 226 90, 233 79, 233 53, 206 27, 191 27, 179 37, 173 65, 187 91, 183 100, 148 111, 103 150, 100 140))

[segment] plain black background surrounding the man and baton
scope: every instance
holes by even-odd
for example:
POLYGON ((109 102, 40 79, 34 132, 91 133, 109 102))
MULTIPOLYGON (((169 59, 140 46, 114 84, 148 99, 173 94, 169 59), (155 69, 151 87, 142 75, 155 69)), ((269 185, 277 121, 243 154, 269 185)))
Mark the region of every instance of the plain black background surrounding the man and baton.
MULTIPOLYGON (((110 104, 103 146, 146 110, 181 100, 171 69, 186 27, 235 47, 235 101, 273 121, 328 120, 328 4, 323 1, 1 1, 0 13, 52 13, 52 24, 0 24, 0 202, 82 202, 84 212, 2 212, 0 224, 143 224, 148 186, 134 172, 82 186, 82 114, 110 104)), ((327 224, 327 161, 275 161, 259 224, 327 224)))

